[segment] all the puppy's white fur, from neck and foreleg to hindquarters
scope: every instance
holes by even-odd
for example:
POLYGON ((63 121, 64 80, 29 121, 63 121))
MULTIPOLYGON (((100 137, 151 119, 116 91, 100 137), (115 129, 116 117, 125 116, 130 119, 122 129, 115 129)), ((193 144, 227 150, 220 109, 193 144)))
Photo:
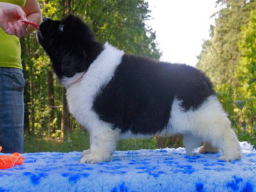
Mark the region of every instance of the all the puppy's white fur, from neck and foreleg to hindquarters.
MULTIPOLYGON (((95 96, 100 92, 100 88, 111 80, 116 67, 122 61, 123 54, 123 51, 106 43, 104 51, 93 61, 85 74, 78 73, 72 78, 61 80, 67 88, 70 113, 90 132, 90 149, 83 151, 81 163, 110 161, 120 136, 147 137, 142 134, 134 135, 129 131, 120 135, 118 127, 112 127, 111 124, 100 120, 92 109, 95 96), (81 80, 77 81, 79 78, 81 80)), ((209 97, 195 110, 184 111, 181 102, 177 98, 173 100, 169 123, 158 135, 184 134, 184 145, 189 155, 194 153, 202 141, 207 141, 221 149, 223 156, 220 159, 232 161, 240 158, 240 145, 236 134, 232 131, 227 114, 215 96, 209 97)))

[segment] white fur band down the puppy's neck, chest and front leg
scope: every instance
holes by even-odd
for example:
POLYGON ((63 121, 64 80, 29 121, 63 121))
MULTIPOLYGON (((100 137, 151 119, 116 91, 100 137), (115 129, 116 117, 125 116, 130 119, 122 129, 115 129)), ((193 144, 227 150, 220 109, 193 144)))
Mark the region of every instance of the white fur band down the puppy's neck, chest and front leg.
POLYGON ((67 88, 67 100, 70 113, 77 122, 90 132, 90 150, 83 153, 81 163, 97 163, 110 161, 115 151, 119 129, 111 129, 112 125, 100 120, 93 111, 93 99, 113 77, 116 67, 122 61, 124 52, 104 44, 104 50, 93 61, 81 81, 74 83, 82 74, 70 79, 63 79, 67 88), (74 84, 72 84, 74 83, 74 84))

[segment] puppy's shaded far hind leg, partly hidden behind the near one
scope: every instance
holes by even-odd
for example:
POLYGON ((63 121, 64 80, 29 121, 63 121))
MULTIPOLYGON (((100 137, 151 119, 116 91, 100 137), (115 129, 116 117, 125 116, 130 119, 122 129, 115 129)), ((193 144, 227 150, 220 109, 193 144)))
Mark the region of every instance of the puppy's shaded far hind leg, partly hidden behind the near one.
POLYGON ((186 148, 187 155, 192 156, 193 154, 195 154, 195 148, 200 147, 200 145, 202 144, 202 138, 199 138, 198 136, 187 132, 186 134, 184 134, 183 144, 186 148))

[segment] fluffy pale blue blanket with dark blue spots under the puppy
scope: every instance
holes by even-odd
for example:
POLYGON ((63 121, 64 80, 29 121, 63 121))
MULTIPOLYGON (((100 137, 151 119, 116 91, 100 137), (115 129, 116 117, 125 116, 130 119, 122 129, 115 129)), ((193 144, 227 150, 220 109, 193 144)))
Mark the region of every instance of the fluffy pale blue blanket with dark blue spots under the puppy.
POLYGON ((116 151, 99 164, 79 163, 81 152, 24 154, 24 164, 0 170, 0 191, 256 191, 256 151, 241 147, 232 163, 184 148, 116 151))

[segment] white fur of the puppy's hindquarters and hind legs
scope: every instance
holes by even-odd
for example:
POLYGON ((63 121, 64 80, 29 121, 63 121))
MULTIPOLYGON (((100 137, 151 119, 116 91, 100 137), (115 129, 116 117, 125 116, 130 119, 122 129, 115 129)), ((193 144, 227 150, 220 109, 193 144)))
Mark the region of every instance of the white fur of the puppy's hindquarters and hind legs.
POLYGON ((200 141, 207 141, 223 152, 220 159, 225 161, 240 159, 239 141, 216 96, 208 97, 196 110, 184 111, 181 102, 176 98, 173 100, 167 129, 171 133, 184 134, 184 143, 188 154, 193 154, 200 141))

